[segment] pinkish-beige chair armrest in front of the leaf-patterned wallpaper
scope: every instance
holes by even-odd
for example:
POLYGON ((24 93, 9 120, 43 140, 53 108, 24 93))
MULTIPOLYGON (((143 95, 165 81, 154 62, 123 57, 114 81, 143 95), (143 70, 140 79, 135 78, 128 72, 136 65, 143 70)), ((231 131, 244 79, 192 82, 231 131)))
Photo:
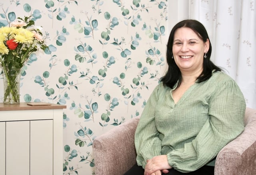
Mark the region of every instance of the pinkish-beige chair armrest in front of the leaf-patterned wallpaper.
POLYGON ((134 134, 139 122, 135 117, 93 140, 96 175, 123 175, 136 163, 134 134))

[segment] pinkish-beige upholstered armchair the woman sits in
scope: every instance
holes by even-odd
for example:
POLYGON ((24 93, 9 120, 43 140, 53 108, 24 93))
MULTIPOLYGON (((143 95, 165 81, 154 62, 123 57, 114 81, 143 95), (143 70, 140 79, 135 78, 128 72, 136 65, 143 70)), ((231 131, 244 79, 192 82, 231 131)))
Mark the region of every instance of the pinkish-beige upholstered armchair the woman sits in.
MULTIPOLYGON (((93 141, 96 175, 123 175, 136 163, 134 133, 139 117, 93 141)), ((219 152, 215 175, 256 175, 256 110, 246 108, 245 130, 219 152)))

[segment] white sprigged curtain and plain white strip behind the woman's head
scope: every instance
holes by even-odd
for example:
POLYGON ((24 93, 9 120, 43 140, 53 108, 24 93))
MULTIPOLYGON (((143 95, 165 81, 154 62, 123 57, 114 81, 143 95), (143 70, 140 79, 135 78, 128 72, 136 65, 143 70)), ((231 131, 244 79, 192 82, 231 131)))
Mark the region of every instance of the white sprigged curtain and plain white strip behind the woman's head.
POLYGON ((170 0, 170 29, 182 19, 204 24, 211 60, 236 80, 247 107, 256 109, 256 0, 170 0))

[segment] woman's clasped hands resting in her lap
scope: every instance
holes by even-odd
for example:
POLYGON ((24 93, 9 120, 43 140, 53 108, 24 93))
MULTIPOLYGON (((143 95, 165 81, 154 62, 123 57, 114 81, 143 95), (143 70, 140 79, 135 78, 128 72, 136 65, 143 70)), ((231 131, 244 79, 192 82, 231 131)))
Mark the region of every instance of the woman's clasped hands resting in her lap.
POLYGON ((155 156, 147 160, 144 175, 161 175, 162 172, 168 173, 168 169, 171 168, 167 160, 167 155, 155 156))

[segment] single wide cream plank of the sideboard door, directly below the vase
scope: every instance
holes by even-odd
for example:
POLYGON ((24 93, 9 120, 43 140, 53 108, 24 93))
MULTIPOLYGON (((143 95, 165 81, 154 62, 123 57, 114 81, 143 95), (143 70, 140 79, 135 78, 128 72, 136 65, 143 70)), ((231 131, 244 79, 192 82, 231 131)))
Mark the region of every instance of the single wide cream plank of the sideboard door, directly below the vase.
POLYGON ((30 121, 6 122, 6 175, 30 174, 30 121))

